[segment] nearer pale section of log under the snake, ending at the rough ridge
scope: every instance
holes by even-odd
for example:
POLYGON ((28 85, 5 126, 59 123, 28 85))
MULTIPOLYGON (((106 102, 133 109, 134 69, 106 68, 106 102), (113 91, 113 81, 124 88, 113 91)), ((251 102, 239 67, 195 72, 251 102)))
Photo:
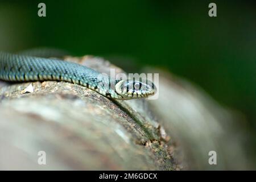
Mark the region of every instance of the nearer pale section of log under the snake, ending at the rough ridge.
MULTIPOLYGON (((66 60, 122 72, 99 57, 66 60)), ((0 86, 0 169, 179 169, 146 100, 113 101, 62 81, 0 86)))

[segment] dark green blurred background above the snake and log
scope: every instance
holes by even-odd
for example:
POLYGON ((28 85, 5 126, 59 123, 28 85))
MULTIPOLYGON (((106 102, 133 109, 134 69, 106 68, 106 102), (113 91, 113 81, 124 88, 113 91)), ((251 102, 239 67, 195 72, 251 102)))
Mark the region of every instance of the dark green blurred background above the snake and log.
POLYGON ((256 128, 255 1, 1 1, 0 16, 2 50, 47 46, 166 68, 256 128))

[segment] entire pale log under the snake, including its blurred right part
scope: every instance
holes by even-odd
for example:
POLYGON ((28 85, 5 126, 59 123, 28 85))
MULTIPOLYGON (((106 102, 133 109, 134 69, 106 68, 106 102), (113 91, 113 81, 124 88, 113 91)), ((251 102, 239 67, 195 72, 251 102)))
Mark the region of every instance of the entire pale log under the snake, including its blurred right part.
MULTIPOLYGON (((123 73, 100 57, 65 60, 123 73)), ((68 82, 0 82, 0 169, 255 169, 243 114, 163 69, 143 72, 159 73, 156 100, 110 100, 68 82)))

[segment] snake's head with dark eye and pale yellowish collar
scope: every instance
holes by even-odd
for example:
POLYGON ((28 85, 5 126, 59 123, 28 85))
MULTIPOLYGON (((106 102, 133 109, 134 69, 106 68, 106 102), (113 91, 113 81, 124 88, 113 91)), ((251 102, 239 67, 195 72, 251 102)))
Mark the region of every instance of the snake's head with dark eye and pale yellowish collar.
POLYGON ((115 84, 115 92, 122 100, 132 98, 146 98, 156 92, 155 85, 151 81, 121 80, 115 84))

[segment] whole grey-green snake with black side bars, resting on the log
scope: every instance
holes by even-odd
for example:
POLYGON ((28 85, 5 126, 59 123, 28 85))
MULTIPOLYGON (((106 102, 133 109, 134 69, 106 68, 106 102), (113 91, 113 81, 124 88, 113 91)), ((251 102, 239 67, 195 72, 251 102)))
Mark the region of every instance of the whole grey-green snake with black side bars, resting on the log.
POLYGON ((28 54, 0 52, 0 80, 71 82, 114 100, 146 98, 156 92, 154 83, 147 79, 113 78, 81 64, 28 54))

